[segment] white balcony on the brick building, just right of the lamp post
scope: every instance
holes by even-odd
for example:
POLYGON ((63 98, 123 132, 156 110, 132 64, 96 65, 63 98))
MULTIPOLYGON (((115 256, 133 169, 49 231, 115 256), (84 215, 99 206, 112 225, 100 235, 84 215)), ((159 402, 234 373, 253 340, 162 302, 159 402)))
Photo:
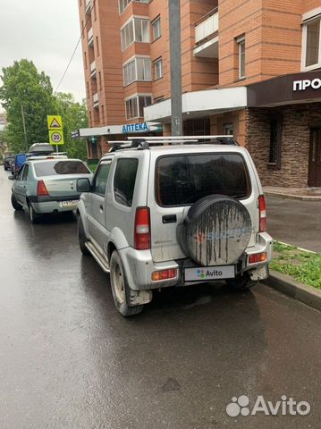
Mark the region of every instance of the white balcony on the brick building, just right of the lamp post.
POLYGON ((194 56, 218 57, 218 9, 204 15, 195 23, 194 56))

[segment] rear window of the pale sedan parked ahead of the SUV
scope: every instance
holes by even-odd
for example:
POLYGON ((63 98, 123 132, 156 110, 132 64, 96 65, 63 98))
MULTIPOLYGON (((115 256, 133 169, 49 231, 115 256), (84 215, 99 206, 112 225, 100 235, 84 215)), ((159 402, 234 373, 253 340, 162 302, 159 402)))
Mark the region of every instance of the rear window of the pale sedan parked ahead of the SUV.
POLYGON ((55 174, 89 174, 89 169, 81 161, 45 161, 34 166, 38 177, 55 174))

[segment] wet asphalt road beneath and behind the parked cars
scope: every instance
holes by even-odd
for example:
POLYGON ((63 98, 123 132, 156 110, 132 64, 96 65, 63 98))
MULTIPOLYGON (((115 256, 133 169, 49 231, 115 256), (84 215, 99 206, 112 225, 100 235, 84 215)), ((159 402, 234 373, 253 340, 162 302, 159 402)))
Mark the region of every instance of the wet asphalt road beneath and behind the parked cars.
POLYGON ((0 427, 318 428, 321 315, 261 285, 157 295, 123 319, 76 223, 13 213, 0 171, 0 427), (285 394, 308 416, 225 413, 285 394))

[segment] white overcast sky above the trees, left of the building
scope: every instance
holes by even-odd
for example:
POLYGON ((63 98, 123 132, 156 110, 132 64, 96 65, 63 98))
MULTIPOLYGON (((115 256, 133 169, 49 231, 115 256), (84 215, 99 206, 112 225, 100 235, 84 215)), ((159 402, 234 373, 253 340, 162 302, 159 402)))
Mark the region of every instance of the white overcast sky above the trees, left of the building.
MULTIPOLYGON (((0 74, 27 58, 45 71, 55 90, 80 38, 78 0, 0 0, 0 11, 0 74)), ((78 101, 85 97, 81 46, 58 90, 78 101)))

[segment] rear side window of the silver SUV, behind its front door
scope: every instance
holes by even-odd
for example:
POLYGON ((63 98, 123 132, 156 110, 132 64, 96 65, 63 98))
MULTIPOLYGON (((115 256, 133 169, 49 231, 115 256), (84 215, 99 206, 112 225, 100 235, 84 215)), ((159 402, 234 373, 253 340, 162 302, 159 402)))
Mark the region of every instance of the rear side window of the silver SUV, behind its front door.
POLYGON ((123 158, 117 161, 114 172, 114 199, 122 206, 131 207, 139 160, 123 158))

